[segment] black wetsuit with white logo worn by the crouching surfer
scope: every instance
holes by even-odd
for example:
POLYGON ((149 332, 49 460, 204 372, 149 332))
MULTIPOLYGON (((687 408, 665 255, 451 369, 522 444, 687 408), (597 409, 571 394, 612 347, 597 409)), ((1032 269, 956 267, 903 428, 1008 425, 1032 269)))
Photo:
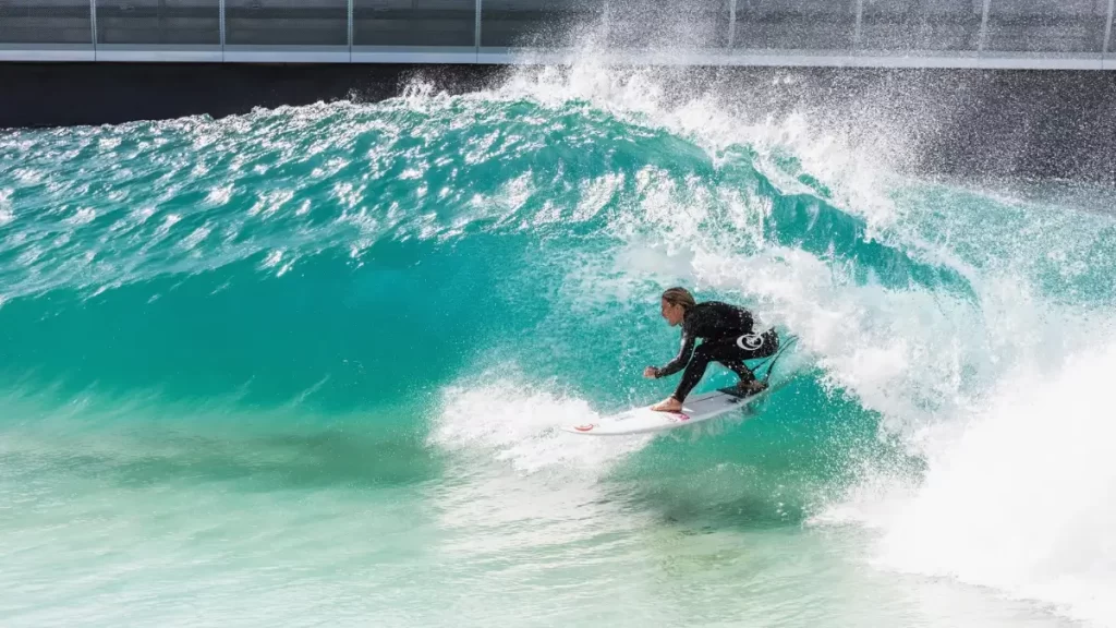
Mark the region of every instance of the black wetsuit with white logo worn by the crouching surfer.
POLYGON ((682 348, 666 365, 655 369, 662 378, 685 367, 674 398, 684 401, 693 390, 710 362, 720 362, 740 375, 742 383, 756 380, 744 360, 767 358, 779 349, 779 335, 773 329, 756 334, 752 313, 735 305, 708 301, 686 308, 682 318, 682 348), (703 342, 694 351, 694 341, 703 342), (691 353, 693 356, 691 358, 691 353))

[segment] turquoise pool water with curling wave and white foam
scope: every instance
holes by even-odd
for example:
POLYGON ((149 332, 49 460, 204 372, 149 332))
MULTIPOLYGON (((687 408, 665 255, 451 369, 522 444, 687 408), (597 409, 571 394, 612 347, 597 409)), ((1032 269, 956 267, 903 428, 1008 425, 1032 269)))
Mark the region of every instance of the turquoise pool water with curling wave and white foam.
POLYGON ((1116 625, 1112 190, 654 87, 0 134, 3 624, 1116 625), (674 284, 788 386, 558 431, 674 284))

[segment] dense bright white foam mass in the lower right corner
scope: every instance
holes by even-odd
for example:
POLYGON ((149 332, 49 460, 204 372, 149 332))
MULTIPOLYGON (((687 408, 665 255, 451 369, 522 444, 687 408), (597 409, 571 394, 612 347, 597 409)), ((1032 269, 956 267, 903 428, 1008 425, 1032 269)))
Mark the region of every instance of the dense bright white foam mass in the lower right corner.
POLYGON ((1113 372, 1116 342, 1054 372, 1019 369, 984 409, 935 431, 920 487, 862 495, 829 515, 881 530, 879 567, 994 587, 1116 626, 1113 372))

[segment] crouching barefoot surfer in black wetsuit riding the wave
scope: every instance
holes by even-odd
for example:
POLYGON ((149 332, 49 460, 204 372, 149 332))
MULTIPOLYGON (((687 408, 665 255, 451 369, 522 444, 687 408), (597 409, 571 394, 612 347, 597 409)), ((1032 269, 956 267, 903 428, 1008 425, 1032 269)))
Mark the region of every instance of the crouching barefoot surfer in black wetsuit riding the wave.
POLYGON ((682 348, 679 354, 664 367, 647 367, 643 377, 664 378, 685 368, 674 394, 651 407, 661 412, 676 412, 693 390, 710 362, 719 362, 740 377, 737 388, 744 393, 762 390, 756 374, 744 364, 744 360, 767 358, 779 350, 779 334, 770 329, 754 333, 752 313, 743 307, 706 301, 698 303, 690 291, 670 288, 662 296, 663 318, 673 327, 682 325, 682 348), (702 339, 694 350, 694 341, 702 339))

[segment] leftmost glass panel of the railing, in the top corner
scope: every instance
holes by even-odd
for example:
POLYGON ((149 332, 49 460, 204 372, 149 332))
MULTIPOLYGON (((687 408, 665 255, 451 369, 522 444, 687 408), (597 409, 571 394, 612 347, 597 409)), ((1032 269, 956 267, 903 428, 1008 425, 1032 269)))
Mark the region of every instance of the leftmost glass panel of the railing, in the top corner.
POLYGON ((89 0, 0 0, 0 44, 93 44, 89 0))

